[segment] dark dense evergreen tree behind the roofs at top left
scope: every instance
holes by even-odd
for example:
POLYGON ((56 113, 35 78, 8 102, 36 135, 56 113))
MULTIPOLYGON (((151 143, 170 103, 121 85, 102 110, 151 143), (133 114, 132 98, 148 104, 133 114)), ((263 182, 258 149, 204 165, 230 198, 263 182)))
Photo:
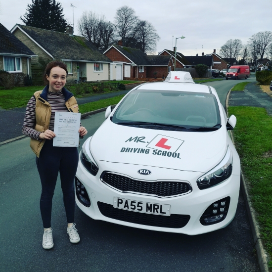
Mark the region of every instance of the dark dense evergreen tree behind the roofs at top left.
POLYGON ((63 7, 55 0, 32 0, 27 5, 26 13, 20 19, 27 25, 52 31, 64 32, 67 21, 63 7))

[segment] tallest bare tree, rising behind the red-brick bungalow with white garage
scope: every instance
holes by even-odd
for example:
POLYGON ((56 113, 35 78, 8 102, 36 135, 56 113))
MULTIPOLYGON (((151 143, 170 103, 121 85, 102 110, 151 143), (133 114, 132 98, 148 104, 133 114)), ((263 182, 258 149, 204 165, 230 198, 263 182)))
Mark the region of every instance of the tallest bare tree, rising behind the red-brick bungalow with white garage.
POLYGON ((124 46, 128 46, 130 40, 136 39, 139 27, 135 10, 127 5, 121 6, 114 18, 117 38, 123 41, 124 46))

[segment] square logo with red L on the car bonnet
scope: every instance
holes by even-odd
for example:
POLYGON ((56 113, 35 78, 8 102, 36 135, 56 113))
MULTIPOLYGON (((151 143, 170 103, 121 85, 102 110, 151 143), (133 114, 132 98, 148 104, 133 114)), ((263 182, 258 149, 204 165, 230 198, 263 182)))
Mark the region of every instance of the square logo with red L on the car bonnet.
POLYGON ((146 147, 157 149, 157 150, 169 150, 177 152, 181 147, 183 140, 172 138, 164 135, 157 135, 152 141, 150 141, 146 147))

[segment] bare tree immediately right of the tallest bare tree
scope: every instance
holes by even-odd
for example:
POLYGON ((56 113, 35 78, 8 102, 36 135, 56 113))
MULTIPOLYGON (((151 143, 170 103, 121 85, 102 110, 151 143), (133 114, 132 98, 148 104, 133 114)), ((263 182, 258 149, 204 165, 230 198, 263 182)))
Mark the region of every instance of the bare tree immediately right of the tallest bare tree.
POLYGON ((156 50, 157 41, 160 40, 160 36, 151 23, 148 21, 139 21, 137 40, 143 52, 152 53, 156 50))

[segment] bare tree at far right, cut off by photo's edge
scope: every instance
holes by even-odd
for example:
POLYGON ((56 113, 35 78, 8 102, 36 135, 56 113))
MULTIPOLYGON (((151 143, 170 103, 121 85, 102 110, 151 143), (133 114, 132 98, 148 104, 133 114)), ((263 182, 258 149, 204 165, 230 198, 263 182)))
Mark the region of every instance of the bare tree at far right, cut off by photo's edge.
POLYGON ((263 61, 264 54, 269 49, 272 44, 272 31, 260 31, 249 38, 249 45, 256 47, 258 54, 261 57, 261 62, 263 61))

